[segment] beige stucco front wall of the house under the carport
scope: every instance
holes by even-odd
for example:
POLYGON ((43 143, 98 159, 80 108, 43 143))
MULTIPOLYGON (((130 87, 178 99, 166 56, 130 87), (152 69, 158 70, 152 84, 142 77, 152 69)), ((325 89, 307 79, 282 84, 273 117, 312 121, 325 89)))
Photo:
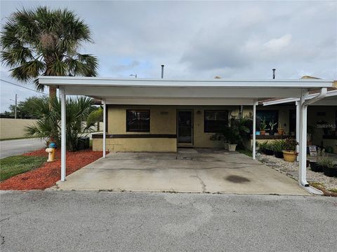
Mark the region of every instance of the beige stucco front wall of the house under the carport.
MULTIPOLYGON (((107 134, 177 134, 178 110, 193 111, 193 146, 223 147, 220 141, 211 140, 213 133, 204 132, 204 110, 224 109, 238 115, 239 106, 108 106, 107 134), (150 132, 126 132, 126 109, 150 109, 150 132)), ((93 139, 93 149, 102 150, 102 139, 93 139)), ((109 151, 176 151, 177 139, 107 139, 109 151)))

